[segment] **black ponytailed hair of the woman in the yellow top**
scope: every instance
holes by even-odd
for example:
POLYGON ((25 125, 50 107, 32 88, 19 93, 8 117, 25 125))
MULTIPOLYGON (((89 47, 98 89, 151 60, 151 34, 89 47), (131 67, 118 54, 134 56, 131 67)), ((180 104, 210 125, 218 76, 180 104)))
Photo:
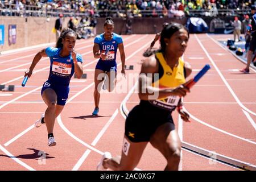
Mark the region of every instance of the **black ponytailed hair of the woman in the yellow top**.
POLYGON ((188 38, 189 38, 189 31, 186 27, 184 27, 182 24, 179 23, 170 23, 166 27, 163 28, 161 32, 161 38, 160 38, 160 49, 157 49, 156 51, 151 51, 150 49, 147 49, 144 53, 144 57, 149 57, 153 55, 156 52, 164 52, 166 51, 166 42, 164 42, 164 39, 170 39, 172 35, 176 31, 179 31, 180 29, 185 29, 188 32, 188 38))

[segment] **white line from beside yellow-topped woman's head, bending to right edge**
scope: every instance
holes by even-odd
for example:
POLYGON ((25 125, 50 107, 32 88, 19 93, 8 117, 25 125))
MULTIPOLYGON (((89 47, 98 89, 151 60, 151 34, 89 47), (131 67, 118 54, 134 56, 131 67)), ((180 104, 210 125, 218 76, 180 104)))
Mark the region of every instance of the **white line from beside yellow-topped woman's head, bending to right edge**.
POLYGON ((201 43, 201 41, 199 40, 199 38, 197 38, 197 35, 195 34, 196 40, 197 42, 200 44, 201 48, 203 49, 203 51, 205 52, 205 55, 207 55, 208 59, 210 60, 210 63, 212 63, 213 67, 216 69, 216 71, 218 72, 218 75, 220 75, 222 81, 224 82, 224 84, 226 85, 226 87, 229 89, 229 92, 232 94, 232 96, 234 97, 234 99, 237 101, 238 105, 240 105, 240 107, 242 107, 242 109, 246 110, 248 113, 253 114, 256 116, 256 113, 254 113, 253 111, 251 111, 250 109, 247 109, 247 107, 245 107, 241 101, 239 100, 239 98, 236 96, 236 94, 234 93, 233 89, 230 87, 230 85, 228 84, 228 82, 225 80, 225 77, 222 75, 222 73, 220 72, 220 69, 218 69, 217 65, 214 63, 212 57, 210 57, 209 53, 207 52, 207 50, 205 49, 205 47, 203 46, 203 44, 201 43))

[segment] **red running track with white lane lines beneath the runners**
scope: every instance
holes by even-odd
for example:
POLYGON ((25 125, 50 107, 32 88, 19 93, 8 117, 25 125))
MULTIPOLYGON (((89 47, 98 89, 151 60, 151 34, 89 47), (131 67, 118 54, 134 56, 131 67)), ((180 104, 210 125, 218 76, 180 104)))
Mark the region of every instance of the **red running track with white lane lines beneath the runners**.
MULTIPOLYGON (((116 90, 101 94, 98 117, 91 116, 97 63, 92 54, 93 39, 77 41, 76 49, 83 56, 88 77, 72 78, 68 104, 55 122, 55 147, 47 146, 45 126, 32 127, 46 109, 40 86, 48 77, 49 59, 36 65, 34 75, 22 88, 23 72, 40 48, 0 56, 0 84, 15 85, 15 92, 0 93, 0 169, 95 170, 102 152, 121 155, 125 119, 119 107, 136 81, 130 76, 138 75, 142 53, 153 38, 154 35, 123 36, 126 64, 134 65, 134 70, 126 71, 127 80, 119 78, 117 88, 124 90, 122 93, 116 90), (45 152, 46 160, 40 159, 40 151, 45 152), (15 158, 10 158, 11 155, 15 158)), ((175 112, 176 128, 185 142, 255 165, 255 72, 251 70, 251 74, 243 75, 237 71, 245 65, 214 42, 223 38, 191 35, 184 60, 192 65, 192 76, 205 64, 210 64, 212 69, 184 99, 192 122, 180 122, 175 112)), ((117 57, 117 63, 121 64, 119 54, 117 57)), ((127 108, 132 109, 138 102, 137 94, 133 93, 127 108)), ((162 170, 165 166, 163 156, 148 144, 138 168, 162 170)), ((180 169, 238 170, 223 163, 211 163, 208 158, 187 150, 182 152, 180 169)))

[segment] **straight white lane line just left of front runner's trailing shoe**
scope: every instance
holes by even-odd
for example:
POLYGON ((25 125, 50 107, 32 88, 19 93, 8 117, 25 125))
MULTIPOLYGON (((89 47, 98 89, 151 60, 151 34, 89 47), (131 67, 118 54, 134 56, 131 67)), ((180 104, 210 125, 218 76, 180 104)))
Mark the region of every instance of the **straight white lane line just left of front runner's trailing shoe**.
MULTIPOLYGON (((106 123, 106 125, 101 129, 101 131, 100 131, 100 133, 98 133, 97 137, 93 140, 93 142, 91 143, 92 146, 96 146, 98 140, 100 140, 100 138, 105 133, 105 131, 108 129, 110 124, 114 121, 114 118, 117 116, 117 114, 118 114, 118 109, 115 110, 112 117, 109 119, 109 121, 106 123)), ((76 165, 73 167, 72 171, 77 171, 81 167, 82 163, 84 163, 84 161, 86 160, 86 158, 88 157, 89 154, 90 154, 90 150, 87 149, 84 152, 84 154, 81 156, 79 161, 76 163, 76 165)))

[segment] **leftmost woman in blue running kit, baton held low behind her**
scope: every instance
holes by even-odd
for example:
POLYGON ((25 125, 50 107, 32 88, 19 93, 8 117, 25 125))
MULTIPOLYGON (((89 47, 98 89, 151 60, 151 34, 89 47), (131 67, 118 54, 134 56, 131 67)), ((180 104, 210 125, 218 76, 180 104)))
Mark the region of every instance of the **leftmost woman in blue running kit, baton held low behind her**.
POLYGON ((41 95, 48 106, 46 112, 35 123, 35 127, 46 123, 48 131, 48 146, 55 146, 56 140, 53 137, 53 126, 56 117, 61 113, 68 99, 69 82, 74 72, 77 78, 82 76, 82 56, 78 54, 74 47, 76 44, 76 33, 70 28, 61 31, 56 47, 47 47, 39 51, 25 76, 30 77, 36 64, 42 57, 49 57, 51 67, 49 77, 43 84, 41 95))

